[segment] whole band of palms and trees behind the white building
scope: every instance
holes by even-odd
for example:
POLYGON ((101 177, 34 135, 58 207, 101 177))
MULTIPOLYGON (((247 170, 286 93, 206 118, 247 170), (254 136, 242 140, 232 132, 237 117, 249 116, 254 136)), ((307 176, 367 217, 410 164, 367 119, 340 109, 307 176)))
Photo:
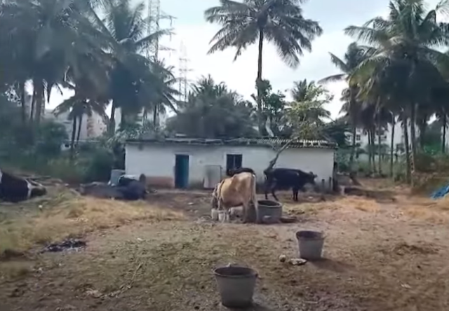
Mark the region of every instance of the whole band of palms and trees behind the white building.
POLYGON ((382 173, 380 161, 388 149, 390 174, 394 157, 404 151, 406 179, 411 181, 416 160, 429 146, 434 152, 438 143, 439 152, 446 151, 449 24, 444 17, 449 1, 431 9, 424 0, 389 1, 385 17, 345 29, 354 42, 344 55, 330 51, 337 74, 318 82, 302 77, 280 92, 262 75, 263 50, 266 43, 272 44, 288 67, 299 66, 323 32, 318 21, 304 16, 303 5, 298 0, 220 0, 208 8, 206 22, 220 26, 208 53, 234 48, 237 58, 257 44, 255 95, 245 98, 203 76, 190 83, 187 100, 181 101, 177 68, 151 50, 172 29, 149 33, 154 21, 146 16, 144 2, 1 1, 0 127, 8 135, 0 142, 35 150, 44 133, 55 134, 55 141, 66 137, 62 127, 42 120, 51 94, 68 88, 73 96, 54 112, 72 122, 72 154, 81 127, 95 114, 109 127, 107 141, 150 132, 330 139, 348 146, 351 167, 358 151, 366 148, 371 172, 382 173), (347 87, 338 95, 342 116, 333 120, 333 95, 326 83, 335 81, 347 87), (116 111, 120 120, 115 119, 116 111), (164 125, 159 116, 167 112, 173 116, 164 125), (390 141, 386 132, 391 132, 390 141), (368 146, 360 146, 361 134, 368 137, 368 146), (398 135, 403 137, 401 144, 395 142, 398 135))

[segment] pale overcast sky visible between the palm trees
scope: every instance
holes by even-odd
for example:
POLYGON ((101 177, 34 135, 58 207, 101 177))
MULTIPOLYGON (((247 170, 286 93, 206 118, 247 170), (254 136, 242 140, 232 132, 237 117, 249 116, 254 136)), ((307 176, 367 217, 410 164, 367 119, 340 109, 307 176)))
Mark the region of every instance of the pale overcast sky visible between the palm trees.
MULTIPOLYGON (((145 0, 147 1, 147 0, 145 0)), ((319 80, 337 74, 339 71, 330 62, 329 52, 343 57, 351 43, 351 38, 344 35, 343 29, 348 25, 361 25, 370 18, 385 15, 388 12, 388 0, 309 0, 304 5, 304 17, 316 20, 323 28, 323 35, 312 43, 312 52, 306 53, 300 66, 293 70, 278 57, 276 49, 269 43, 264 46, 263 78, 272 82, 274 90, 286 90, 293 86, 293 81, 319 80), (363 4, 362 4, 363 3, 363 4)), ((428 0, 429 7, 438 0, 428 0)), ((136 1, 137 3, 137 1, 136 1)), ((210 74, 215 81, 225 81, 229 88, 249 99, 255 92, 257 73, 257 46, 251 46, 233 62, 234 50, 207 55, 209 41, 219 26, 205 22, 203 13, 206 8, 218 4, 217 0, 161 0, 161 10, 175 16, 173 28, 175 35, 164 39, 163 43, 175 51, 160 53, 168 64, 179 67, 180 46, 184 44, 191 69, 188 78, 196 81, 201 76, 210 74)), ((161 27, 170 27, 168 20, 161 21, 161 27)), ((342 106, 339 98, 344 83, 332 83, 328 89, 335 99, 328 105, 332 116, 338 115, 342 106)), ((69 97, 69 92, 60 95, 53 92, 49 108, 54 108, 69 97)))

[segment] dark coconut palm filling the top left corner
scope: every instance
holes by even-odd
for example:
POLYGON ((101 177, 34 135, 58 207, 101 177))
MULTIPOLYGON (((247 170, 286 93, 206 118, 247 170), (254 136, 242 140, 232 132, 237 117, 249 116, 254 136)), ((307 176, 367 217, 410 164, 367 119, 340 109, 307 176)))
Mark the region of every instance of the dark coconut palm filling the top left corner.
MULTIPOLYGON (((7 53, 13 55, 10 61, 15 67, 12 78, 18 84, 22 106, 25 106, 25 82, 32 81, 30 118, 39 124, 51 90, 63 80, 74 55, 93 47, 100 50, 100 41, 94 35, 95 28, 83 15, 79 1, 15 0, 0 5, 0 29, 9 34, 9 41, 2 46, 8 47, 7 53)), ((22 109, 23 119, 24 112, 22 109)))

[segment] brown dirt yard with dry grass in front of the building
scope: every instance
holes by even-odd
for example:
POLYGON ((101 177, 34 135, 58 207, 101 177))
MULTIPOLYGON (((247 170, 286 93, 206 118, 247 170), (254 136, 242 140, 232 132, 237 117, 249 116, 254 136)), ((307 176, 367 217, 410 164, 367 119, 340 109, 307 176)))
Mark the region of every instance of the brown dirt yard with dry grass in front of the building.
POLYGON ((211 223, 207 192, 161 192, 132 204, 64 197, 43 211, 29 202, 20 213, 0 206, 3 251, 11 232, 9 247, 22 241, 18 250, 65 230, 88 242, 78 252, 4 258, 0 310, 224 310, 211 272, 227 263, 259 272, 254 310, 449 310, 449 200, 413 197, 387 181, 364 184, 382 195, 303 195, 294 204, 283 194, 299 221, 270 226, 211 223), (297 256, 301 229, 326 233, 326 259, 279 262, 297 256))

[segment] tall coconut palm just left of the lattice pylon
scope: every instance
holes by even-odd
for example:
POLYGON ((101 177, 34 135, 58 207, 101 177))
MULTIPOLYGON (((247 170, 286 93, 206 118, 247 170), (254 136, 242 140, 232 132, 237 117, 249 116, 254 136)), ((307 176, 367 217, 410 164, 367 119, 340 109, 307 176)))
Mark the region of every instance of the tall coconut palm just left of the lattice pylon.
MULTIPOLYGON (((154 61, 143 54, 155 40, 170 34, 170 30, 161 29, 147 34, 149 20, 144 18, 143 2, 132 5, 130 0, 103 0, 98 1, 98 9, 105 14, 105 18, 99 18, 95 8, 91 8, 92 21, 102 32, 102 37, 112 42, 110 53, 114 62, 109 85, 109 96, 112 98, 109 131, 114 132, 117 108, 121 109, 121 121, 125 123, 129 113, 138 113, 153 102, 154 92, 158 90, 155 86, 160 86, 160 79, 157 69, 154 69, 154 61)), ((163 94, 164 99, 170 98, 168 93, 163 94)))

